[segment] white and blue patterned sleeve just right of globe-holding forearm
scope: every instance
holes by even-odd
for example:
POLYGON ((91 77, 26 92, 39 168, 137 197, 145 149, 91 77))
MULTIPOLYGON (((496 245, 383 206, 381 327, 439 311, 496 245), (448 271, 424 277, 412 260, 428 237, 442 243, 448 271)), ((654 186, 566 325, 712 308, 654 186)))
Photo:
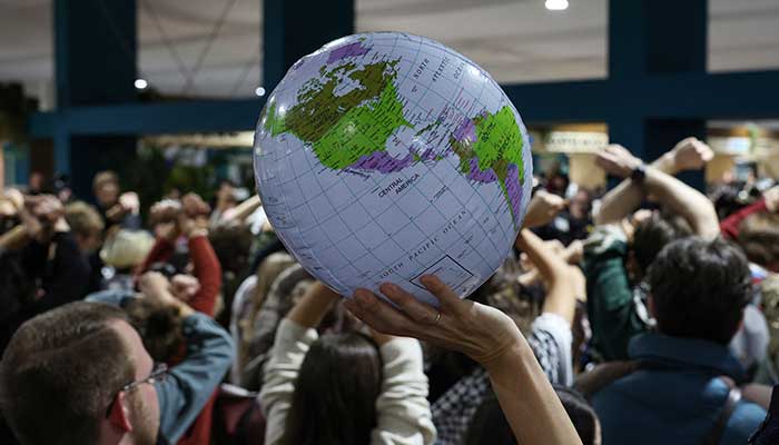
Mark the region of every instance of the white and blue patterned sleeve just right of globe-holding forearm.
POLYGON ((527 343, 552 384, 573 384, 573 334, 563 317, 552 313, 541 314, 531 326, 527 343))

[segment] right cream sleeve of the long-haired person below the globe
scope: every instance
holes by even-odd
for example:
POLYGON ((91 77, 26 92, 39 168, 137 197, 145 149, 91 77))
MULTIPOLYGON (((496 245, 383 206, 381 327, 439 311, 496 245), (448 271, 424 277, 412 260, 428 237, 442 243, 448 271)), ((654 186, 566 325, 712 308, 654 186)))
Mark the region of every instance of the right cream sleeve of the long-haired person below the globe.
POLYGON ((423 445, 435 442, 427 376, 422 348, 413 338, 394 338, 381 347, 384 362, 382 394, 376 400, 378 422, 371 443, 423 445))

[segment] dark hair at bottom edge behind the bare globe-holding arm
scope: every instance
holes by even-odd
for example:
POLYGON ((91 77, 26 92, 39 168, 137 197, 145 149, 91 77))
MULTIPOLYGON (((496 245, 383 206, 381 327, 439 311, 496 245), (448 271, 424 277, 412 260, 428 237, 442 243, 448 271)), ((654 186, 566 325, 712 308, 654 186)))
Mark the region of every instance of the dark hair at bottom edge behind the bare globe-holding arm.
MULTIPOLYGON (((565 413, 583 445, 593 445, 598 437, 598 415, 586 399, 575 389, 554 385, 565 413)), ((464 445, 514 445, 516 439, 494 394, 485 398, 471 419, 464 445)))

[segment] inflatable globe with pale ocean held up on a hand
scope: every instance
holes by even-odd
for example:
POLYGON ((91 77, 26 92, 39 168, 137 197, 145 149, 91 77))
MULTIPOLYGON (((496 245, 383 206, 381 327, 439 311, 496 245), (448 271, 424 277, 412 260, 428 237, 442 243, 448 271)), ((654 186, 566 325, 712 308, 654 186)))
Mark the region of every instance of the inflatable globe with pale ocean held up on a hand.
POLYGON ((435 304, 427 274, 467 296, 509 255, 532 182, 526 130, 490 75, 397 32, 297 61, 267 99, 254 154, 276 234, 345 296, 394 283, 435 304))

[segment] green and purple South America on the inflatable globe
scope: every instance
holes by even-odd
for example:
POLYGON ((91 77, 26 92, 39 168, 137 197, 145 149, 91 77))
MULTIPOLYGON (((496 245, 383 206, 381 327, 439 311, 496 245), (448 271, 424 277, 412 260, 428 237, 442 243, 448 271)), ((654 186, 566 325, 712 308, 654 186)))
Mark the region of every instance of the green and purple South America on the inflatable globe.
POLYGON ((475 129, 475 137, 469 137, 467 130, 450 136, 452 149, 460 157, 460 171, 482 182, 497 180, 516 224, 524 162, 522 135, 514 113, 511 107, 504 106, 495 113, 484 112, 464 122, 464 127, 470 125, 475 129))

